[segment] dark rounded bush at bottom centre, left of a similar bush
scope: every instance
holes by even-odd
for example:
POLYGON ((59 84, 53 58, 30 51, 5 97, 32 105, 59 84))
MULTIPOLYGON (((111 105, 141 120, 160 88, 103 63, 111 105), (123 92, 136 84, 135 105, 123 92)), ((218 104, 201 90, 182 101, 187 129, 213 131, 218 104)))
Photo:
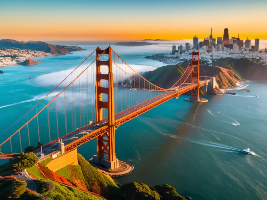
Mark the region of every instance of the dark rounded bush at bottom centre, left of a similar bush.
POLYGON ((149 200, 160 200, 160 196, 157 192, 151 190, 144 183, 131 182, 121 186, 122 192, 126 195, 126 200, 131 199, 149 199, 149 200))

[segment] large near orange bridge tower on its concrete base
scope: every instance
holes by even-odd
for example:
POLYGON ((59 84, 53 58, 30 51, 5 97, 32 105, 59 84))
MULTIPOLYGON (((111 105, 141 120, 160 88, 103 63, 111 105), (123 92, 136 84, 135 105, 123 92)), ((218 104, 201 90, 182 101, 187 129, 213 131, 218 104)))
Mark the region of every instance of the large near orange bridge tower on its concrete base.
MULTIPOLYGON (((109 46, 105 50, 96 49, 96 122, 103 120, 103 109, 108 110, 108 132, 97 137, 97 155, 93 157, 93 163, 104 165, 108 168, 119 167, 119 160, 115 154, 115 112, 112 72, 112 49, 109 46), (108 60, 100 60, 99 55, 108 55, 108 60), (101 74, 101 67, 108 66, 108 74, 101 74), (108 87, 101 86, 101 80, 108 81, 108 87), (108 95, 108 101, 103 101, 102 94, 108 95)), ((103 70, 102 70, 103 71, 103 70)))

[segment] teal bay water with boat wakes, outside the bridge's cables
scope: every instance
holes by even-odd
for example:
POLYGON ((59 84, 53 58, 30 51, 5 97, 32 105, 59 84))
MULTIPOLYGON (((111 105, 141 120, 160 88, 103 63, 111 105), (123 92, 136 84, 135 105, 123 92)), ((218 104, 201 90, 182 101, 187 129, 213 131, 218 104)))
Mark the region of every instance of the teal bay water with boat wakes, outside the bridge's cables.
MULTIPOLYGON (((87 50, 36 58, 43 62, 36 66, 1 69, 0 133, 61 82, 65 70, 76 67, 97 47, 79 46, 87 50)), ((170 45, 112 47, 134 69, 143 71, 163 65, 145 56, 171 50, 170 45)), ((121 125, 116 130, 116 156, 135 168, 117 181, 167 183, 193 199, 267 199, 267 83, 245 82, 242 87, 250 92, 234 89, 237 95, 207 96, 209 102, 203 104, 180 96, 121 125), (240 151, 246 147, 257 155, 240 151)), ((0 135, 1 142, 11 130, 0 135)), ((57 137, 51 134, 52 139, 57 137)), ((91 158, 96 140, 78 147, 78 152, 91 158)))

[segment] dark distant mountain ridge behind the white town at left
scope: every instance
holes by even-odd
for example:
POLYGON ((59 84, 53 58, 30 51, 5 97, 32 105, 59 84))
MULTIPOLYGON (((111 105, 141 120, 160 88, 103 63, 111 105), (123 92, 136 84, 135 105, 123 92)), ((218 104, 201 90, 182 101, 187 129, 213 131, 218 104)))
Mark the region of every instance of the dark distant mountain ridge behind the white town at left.
POLYGON ((55 46, 41 41, 19 42, 14 39, 1 39, 0 46, 5 48, 31 49, 52 54, 70 54, 70 51, 84 50, 81 47, 76 46, 71 46, 68 48, 67 46, 55 46))

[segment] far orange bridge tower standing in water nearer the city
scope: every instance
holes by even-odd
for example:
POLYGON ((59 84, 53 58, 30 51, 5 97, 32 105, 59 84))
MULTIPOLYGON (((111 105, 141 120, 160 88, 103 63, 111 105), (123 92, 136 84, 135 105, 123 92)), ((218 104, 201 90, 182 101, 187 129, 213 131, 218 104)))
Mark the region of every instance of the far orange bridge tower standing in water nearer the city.
MULTIPOLYGON (((199 97, 199 90, 200 90, 200 85, 199 85, 199 51, 194 52, 192 51, 192 59, 191 59, 191 69, 192 69, 192 84, 198 84, 196 88, 191 90, 191 97, 190 99, 184 99, 185 101, 192 101, 192 102, 199 102, 199 103, 205 103, 208 102, 207 99, 200 98, 199 97), (195 71, 197 70, 197 71, 195 71)), ((189 66, 190 67, 190 66, 189 66)))

